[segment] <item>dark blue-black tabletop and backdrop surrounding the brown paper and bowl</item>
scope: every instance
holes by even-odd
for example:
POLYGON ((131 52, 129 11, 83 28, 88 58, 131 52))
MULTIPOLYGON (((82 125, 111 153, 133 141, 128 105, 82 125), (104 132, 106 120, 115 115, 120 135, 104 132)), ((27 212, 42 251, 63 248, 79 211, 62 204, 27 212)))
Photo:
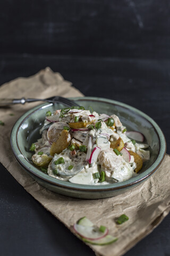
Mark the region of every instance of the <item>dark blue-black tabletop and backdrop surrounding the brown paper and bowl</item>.
MULTIPOLYGON (((169 11, 169 0, 1 1, 0 84, 49 66, 87 96, 148 114, 169 154, 169 11)), ((0 255, 94 255, 0 169, 0 255)), ((125 255, 170 255, 169 220, 125 255)))

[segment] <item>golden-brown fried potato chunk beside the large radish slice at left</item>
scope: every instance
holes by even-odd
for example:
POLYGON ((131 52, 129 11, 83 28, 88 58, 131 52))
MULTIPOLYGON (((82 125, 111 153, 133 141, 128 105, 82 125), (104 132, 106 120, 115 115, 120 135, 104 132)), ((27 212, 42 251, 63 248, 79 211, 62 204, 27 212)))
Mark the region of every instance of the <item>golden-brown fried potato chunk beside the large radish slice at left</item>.
POLYGON ((69 147, 71 141, 70 132, 67 130, 62 130, 60 137, 53 142, 50 149, 50 155, 54 156, 55 154, 60 154, 64 149, 69 147))

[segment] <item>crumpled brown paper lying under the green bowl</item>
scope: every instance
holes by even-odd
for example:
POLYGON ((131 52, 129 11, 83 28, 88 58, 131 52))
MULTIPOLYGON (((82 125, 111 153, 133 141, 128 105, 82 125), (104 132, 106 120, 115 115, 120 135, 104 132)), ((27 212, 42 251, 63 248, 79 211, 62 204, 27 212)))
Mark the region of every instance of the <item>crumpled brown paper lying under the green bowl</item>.
MULTIPOLYGON (((65 81, 60 74, 53 73, 49 68, 29 78, 17 78, 2 85, 0 95, 1 98, 83 96, 71 86, 70 82, 65 81)), ((12 126, 25 111, 38 104, 34 102, 23 106, 13 105, 11 108, 0 108, 0 120, 7 124, 0 125, 1 163, 28 193, 62 221, 67 228, 72 230, 73 223, 85 215, 96 225, 109 227, 109 234, 118 237, 118 240, 105 246, 88 244, 96 255, 123 255, 157 227, 170 211, 170 156, 165 156, 163 163, 148 180, 119 196, 87 200, 55 194, 40 186, 21 169, 10 146, 12 126), (115 219, 123 213, 128 215, 129 221, 118 226, 115 219)))

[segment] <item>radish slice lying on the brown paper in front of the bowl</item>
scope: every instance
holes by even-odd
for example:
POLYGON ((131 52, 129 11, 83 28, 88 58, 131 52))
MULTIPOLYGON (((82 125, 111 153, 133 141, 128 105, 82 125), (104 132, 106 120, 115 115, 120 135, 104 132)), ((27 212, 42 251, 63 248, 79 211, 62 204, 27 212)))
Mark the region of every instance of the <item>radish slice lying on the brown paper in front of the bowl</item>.
POLYGON ((89 227, 75 223, 73 228, 81 237, 92 241, 104 238, 108 234, 108 228, 105 229, 105 232, 101 232, 97 226, 89 227))

